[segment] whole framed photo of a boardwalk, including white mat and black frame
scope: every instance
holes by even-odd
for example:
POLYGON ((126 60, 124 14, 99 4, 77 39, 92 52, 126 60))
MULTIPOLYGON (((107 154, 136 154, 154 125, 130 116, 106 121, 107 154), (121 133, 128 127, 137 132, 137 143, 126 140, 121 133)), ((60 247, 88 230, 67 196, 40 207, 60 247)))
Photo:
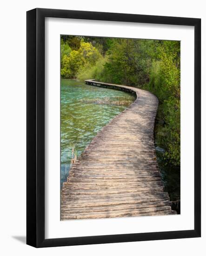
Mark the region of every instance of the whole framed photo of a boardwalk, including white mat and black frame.
POLYGON ((201 20, 27 12, 27 244, 199 237, 201 20))

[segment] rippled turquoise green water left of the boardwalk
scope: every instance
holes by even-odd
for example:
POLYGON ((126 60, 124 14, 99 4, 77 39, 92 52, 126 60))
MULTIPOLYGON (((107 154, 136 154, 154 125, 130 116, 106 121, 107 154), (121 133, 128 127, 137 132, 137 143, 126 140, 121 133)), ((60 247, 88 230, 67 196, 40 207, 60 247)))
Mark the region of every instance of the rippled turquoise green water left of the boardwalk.
POLYGON ((126 108, 88 103, 95 99, 124 99, 129 104, 134 101, 126 92, 61 79, 61 186, 69 172, 73 145, 78 157, 98 131, 126 108))

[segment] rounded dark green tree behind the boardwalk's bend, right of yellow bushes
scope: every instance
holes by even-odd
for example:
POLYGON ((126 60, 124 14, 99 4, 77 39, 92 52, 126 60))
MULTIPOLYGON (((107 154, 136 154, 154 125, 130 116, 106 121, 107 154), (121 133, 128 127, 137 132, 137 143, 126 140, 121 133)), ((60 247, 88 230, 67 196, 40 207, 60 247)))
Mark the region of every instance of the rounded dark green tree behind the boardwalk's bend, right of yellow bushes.
POLYGON ((113 39, 105 67, 114 83, 142 87, 148 82, 151 61, 146 58, 145 41, 113 39))

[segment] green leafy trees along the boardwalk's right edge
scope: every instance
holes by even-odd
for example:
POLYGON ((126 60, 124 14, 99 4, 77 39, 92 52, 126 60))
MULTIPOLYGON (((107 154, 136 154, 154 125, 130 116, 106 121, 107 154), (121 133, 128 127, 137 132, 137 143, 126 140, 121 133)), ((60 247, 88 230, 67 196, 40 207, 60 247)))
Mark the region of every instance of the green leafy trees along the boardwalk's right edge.
POLYGON ((159 145, 166 149, 165 158, 180 165, 180 43, 163 41, 157 47, 147 87, 159 98, 157 130, 159 145))

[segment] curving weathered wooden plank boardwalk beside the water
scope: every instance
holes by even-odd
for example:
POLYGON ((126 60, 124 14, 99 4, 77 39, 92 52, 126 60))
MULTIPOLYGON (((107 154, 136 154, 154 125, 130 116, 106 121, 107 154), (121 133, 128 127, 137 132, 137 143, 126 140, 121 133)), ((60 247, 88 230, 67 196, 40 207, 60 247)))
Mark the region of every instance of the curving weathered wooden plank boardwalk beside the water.
POLYGON ((136 100, 93 138, 61 190, 61 220, 177 214, 163 191, 153 140, 158 99, 133 87, 136 100))

